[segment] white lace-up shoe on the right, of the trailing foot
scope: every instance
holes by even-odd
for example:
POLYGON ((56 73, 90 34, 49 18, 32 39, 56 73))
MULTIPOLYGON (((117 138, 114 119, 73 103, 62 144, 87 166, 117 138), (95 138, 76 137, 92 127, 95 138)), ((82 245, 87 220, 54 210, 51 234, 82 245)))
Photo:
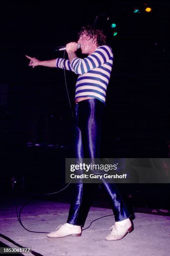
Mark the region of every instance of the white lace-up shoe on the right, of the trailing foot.
POLYGON ((120 240, 127 233, 130 233, 133 230, 133 225, 130 219, 122 220, 115 222, 115 225, 110 227, 111 233, 105 238, 107 241, 120 240))

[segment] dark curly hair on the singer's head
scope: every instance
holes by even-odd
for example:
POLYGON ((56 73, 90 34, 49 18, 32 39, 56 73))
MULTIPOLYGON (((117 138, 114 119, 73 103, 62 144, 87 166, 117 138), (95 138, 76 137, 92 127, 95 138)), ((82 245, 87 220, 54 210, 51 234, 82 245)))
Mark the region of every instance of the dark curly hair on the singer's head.
POLYGON ((77 33, 77 36, 80 37, 82 35, 89 36, 89 40, 91 39, 93 44, 96 43, 97 47, 106 44, 106 36, 102 30, 96 29, 93 26, 85 26, 82 27, 81 30, 77 33))

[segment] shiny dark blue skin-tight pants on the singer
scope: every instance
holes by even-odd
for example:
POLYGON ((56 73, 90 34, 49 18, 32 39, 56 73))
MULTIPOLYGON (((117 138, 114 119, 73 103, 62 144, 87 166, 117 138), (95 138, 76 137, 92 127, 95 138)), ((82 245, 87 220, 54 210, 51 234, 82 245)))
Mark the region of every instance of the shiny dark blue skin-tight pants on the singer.
MULTIPOLYGON (((75 106, 75 158, 99 158, 100 126, 104 104, 97 99, 87 99, 75 106)), ((115 184, 101 184, 110 198, 115 221, 129 218, 130 214, 115 184)), ((76 183, 72 186, 67 223, 84 226, 96 184, 76 183)))

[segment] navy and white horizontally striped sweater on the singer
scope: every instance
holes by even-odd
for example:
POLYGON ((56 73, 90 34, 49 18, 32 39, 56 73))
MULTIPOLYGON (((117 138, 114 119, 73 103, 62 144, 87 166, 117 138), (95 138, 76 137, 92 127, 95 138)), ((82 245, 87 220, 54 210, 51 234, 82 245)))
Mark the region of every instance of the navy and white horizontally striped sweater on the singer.
POLYGON ((75 86, 75 99, 93 97, 105 104, 106 90, 113 64, 113 53, 110 46, 99 46, 85 59, 69 60, 57 58, 56 67, 79 74, 75 86))

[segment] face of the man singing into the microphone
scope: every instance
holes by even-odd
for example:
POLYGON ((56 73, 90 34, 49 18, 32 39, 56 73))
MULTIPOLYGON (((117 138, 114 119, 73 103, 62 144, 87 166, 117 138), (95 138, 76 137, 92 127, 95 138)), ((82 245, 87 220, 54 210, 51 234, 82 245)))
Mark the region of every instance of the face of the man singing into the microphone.
POLYGON ((81 44, 82 54, 92 54, 97 49, 96 43, 92 42, 89 36, 82 34, 78 39, 78 43, 81 44))

